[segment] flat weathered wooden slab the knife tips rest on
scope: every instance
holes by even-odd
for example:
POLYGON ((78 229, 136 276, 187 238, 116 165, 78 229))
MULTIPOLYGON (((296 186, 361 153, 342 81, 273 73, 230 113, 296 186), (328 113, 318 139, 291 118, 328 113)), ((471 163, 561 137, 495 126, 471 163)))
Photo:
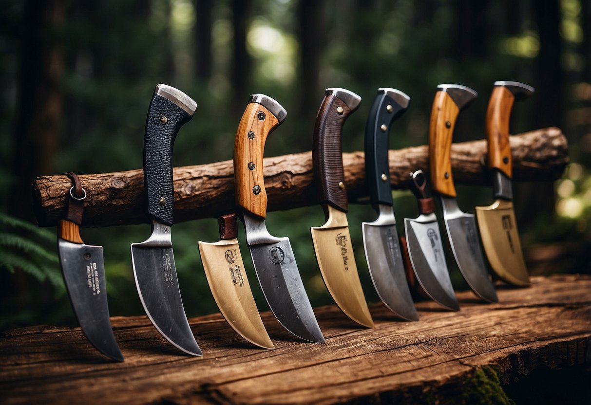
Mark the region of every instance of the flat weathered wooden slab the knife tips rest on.
MULTIPOLYGON (((28 403, 437 403, 482 367, 509 383, 538 368, 591 364, 591 276, 532 277, 499 303, 457 293, 462 310, 418 302, 418 322, 372 305, 374 329, 336 306, 316 308, 326 344, 298 341, 269 312, 275 350, 245 342, 219 313, 191 318, 203 357, 187 357, 146 316, 111 318, 125 362, 94 350, 79 328, 33 326, 0 337, 0 398, 28 403), (450 388, 451 387, 451 388, 450 388), (455 388, 454 388, 455 387, 455 388), (408 396, 412 397, 408 400, 408 396)), ((567 389, 571 389, 568 387, 567 389)))

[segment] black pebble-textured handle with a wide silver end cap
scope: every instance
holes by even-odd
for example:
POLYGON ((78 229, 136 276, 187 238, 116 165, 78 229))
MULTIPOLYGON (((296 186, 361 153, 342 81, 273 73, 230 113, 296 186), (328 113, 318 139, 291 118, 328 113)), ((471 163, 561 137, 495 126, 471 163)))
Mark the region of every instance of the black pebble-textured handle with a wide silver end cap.
POLYGON ((144 138, 144 186, 148 214, 173 224, 173 144, 178 130, 197 109, 189 96, 166 84, 158 84, 148 109, 144 138))

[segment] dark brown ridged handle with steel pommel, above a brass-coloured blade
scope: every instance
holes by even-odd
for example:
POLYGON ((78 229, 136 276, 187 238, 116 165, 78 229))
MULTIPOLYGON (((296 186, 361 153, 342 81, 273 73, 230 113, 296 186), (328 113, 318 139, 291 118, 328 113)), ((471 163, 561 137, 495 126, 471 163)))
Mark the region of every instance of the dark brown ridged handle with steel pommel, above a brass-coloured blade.
POLYGON ((321 204, 347 212, 348 199, 343 171, 341 133, 347 117, 359 107, 361 97, 349 90, 331 87, 316 115, 312 162, 314 182, 321 204))

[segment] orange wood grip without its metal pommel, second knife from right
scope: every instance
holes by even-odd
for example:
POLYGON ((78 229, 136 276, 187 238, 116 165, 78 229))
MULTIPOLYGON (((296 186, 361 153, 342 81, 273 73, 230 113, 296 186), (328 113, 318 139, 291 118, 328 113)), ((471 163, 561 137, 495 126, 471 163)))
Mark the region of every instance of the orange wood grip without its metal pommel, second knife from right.
POLYGON ((452 151, 453 128, 460 109, 446 92, 437 92, 431 110, 429 126, 429 165, 433 190, 448 197, 456 197, 453 185, 452 151))

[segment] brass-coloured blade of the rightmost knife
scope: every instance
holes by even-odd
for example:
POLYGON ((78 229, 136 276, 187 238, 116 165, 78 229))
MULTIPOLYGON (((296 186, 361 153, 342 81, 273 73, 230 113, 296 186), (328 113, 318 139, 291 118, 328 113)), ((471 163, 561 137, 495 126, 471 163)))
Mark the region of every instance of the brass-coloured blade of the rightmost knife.
POLYGON ((527 287, 530 276, 519 241, 513 201, 496 200, 488 207, 476 207, 476 218, 486 256, 500 279, 527 287))

